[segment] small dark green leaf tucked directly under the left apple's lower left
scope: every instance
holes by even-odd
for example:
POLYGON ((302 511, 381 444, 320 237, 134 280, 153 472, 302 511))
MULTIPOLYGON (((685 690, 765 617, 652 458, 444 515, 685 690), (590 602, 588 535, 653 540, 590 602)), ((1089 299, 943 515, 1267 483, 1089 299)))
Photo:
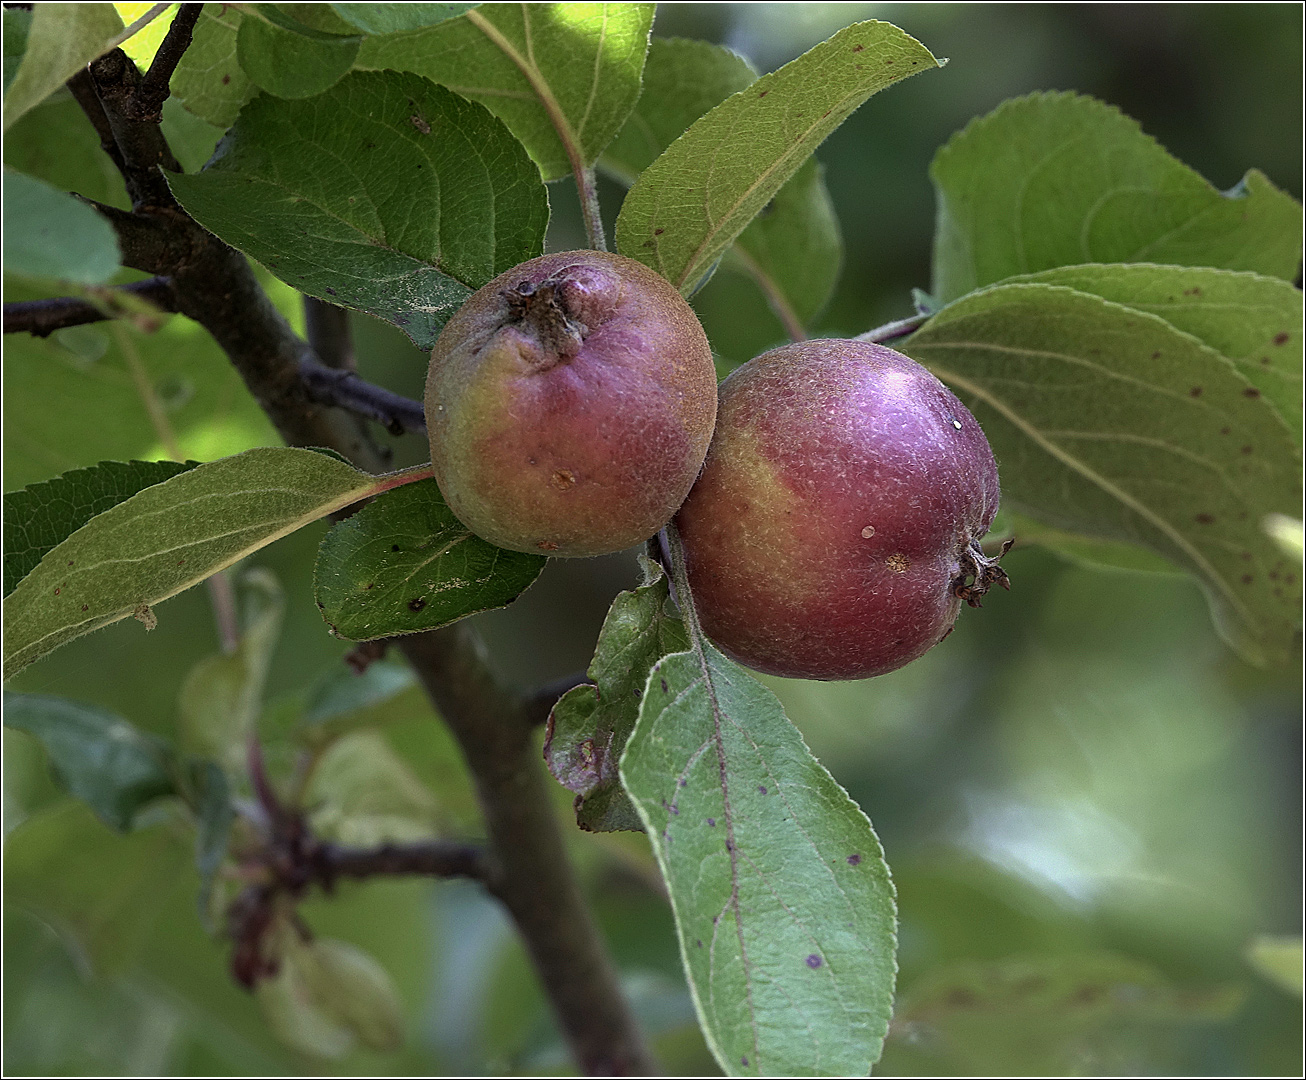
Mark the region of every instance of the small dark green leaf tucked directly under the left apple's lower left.
POLYGON ((313 593, 334 633, 371 641, 512 603, 546 562, 474 535, 426 479, 332 528, 317 552, 313 593))

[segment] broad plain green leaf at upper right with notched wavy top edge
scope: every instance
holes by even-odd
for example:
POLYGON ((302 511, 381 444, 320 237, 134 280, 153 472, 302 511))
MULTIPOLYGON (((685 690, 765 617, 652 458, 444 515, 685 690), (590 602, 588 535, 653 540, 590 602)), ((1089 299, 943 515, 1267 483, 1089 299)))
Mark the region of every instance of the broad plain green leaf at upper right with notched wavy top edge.
POLYGON ((1292 281, 1302 210, 1260 172, 1221 193, 1117 108, 1032 94, 972 121, 930 166, 934 294, 1081 262, 1255 270, 1292 281))

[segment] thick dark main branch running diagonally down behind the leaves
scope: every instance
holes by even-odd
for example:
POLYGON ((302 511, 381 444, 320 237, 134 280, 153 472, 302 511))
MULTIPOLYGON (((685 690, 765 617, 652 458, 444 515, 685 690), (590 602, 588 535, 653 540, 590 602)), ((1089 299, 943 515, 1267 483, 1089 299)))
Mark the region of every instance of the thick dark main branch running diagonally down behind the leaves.
MULTIPOLYGON (((106 61, 97 61, 102 68, 95 71, 98 101, 123 151, 124 179, 137 210, 107 214, 119 229, 124 257, 131 252, 135 261, 129 265, 149 262, 148 273, 171 276, 178 308, 213 336, 287 443, 330 447, 377 471, 383 461, 359 437, 354 418, 324 407, 306 390, 302 360, 308 346, 260 289, 244 256, 180 206, 144 197, 149 183, 129 179, 144 172, 162 183, 158 148, 166 150, 166 142, 157 125, 124 114, 127 95, 104 91, 102 76, 110 82, 114 74, 106 61)), ((115 77, 111 85, 135 89, 129 74, 119 71, 115 77)), ((495 867, 490 888, 512 914, 579 1066, 588 1073, 652 1072, 653 1062, 567 858, 525 708, 495 682, 466 623, 405 636, 397 644, 462 747, 490 836, 487 858, 495 867)), ((257 968, 257 952, 243 951, 247 939, 240 927, 256 926, 266 910, 260 889, 266 887, 251 887, 232 906, 238 978, 257 968)))

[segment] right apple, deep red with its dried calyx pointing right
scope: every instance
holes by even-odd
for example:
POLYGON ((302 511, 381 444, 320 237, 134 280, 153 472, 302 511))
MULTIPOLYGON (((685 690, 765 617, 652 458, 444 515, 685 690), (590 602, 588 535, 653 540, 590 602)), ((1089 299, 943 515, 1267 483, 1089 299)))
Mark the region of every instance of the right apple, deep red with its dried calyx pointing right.
POLYGON ((963 599, 1007 586, 978 545, 998 512, 993 451, 914 360, 804 341, 734 371, 720 398, 677 528, 703 629, 733 659, 882 675, 943 640, 963 599))

